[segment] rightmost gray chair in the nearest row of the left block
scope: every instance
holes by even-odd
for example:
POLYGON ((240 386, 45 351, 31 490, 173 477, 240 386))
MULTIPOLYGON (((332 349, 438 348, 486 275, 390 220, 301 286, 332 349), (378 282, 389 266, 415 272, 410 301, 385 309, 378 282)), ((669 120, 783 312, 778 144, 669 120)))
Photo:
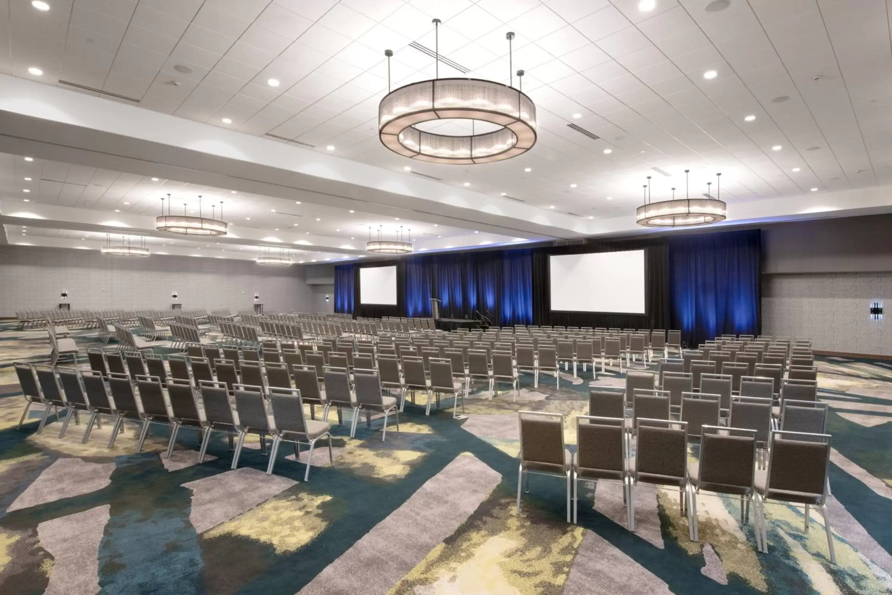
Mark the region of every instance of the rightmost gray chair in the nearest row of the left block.
POLYGON ((325 421, 306 418, 300 391, 292 388, 271 387, 269 389, 269 409, 275 427, 272 428, 273 443, 269 450, 267 475, 273 473, 278 447, 282 441, 294 442, 294 459, 297 461, 301 459, 299 446, 301 442, 310 445, 310 451, 307 453, 307 468, 303 474, 304 482, 310 481, 313 449, 320 438, 328 437, 328 462, 331 465, 335 464, 335 457, 332 454, 331 425, 325 421))

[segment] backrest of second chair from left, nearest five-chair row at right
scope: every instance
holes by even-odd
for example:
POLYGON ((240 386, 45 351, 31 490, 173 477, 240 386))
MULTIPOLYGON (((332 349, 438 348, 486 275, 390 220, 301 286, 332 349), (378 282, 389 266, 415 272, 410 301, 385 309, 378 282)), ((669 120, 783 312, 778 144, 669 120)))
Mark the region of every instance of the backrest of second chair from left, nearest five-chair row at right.
POLYGON ((623 417, 576 417, 576 465, 580 475, 624 476, 624 423, 623 417))

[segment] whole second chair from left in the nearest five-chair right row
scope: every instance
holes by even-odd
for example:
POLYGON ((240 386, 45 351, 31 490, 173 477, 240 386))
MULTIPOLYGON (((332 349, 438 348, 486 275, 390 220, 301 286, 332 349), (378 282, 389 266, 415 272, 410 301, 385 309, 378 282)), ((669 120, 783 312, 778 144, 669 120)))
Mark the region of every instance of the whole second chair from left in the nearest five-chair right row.
POLYGON ((626 521, 629 518, 629 475, 626 473, 625 427, 623 417, 577 416, 576 452, 572 459, 573 522, 578 519, 579 481, 595 485, 622 483, 626 521))

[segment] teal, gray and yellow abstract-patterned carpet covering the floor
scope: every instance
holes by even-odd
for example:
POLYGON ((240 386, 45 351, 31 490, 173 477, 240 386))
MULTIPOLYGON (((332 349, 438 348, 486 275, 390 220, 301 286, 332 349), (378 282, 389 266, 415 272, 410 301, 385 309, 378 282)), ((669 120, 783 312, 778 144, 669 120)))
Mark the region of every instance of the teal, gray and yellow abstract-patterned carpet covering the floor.
MULTIPOLYGON (((76 340, 95 345, 91 334, 76 340)), ((17 431, 24 401, 12 361, 46 361, 47 352, 42 331, 0 325, 4 595, 892 592, 892 362, 819 363, 820 396, 832 407, 833 566, 822 517, 814 513, 805 533, 801 511, 780 505, 767 509, 766 555, 731 499, 698 499, 698 543, 672 491, 637 490, 630 533, 621 488, 581 484, 579 525, 567 525, 564 483, 532 475, 516 515, 516 411, 564 413, 572 445, 591 369, 562 374, 559 389, 545 377, 533 390, 522 375, 517 403, 477 390, 467 419, 451 417, 450 401, 425 417, 419 396, 387 442, 380 420, 360 423, 352 440, 349 425, 335 423, 334 467, 319 449, 304 483, 290 449, 264 475, 257 442, 235 471, 223 437, 197 465, 198 436, 186 429, 172 459, 160 457, 161 430, 134 454, 135 425, 113 450, 108 424, 86 445, 73 424, 60 440, 52 417, 34 434, 39 408, 17 431)), ((620 388, 624 377, 608 368, 595 384, 620 388)))

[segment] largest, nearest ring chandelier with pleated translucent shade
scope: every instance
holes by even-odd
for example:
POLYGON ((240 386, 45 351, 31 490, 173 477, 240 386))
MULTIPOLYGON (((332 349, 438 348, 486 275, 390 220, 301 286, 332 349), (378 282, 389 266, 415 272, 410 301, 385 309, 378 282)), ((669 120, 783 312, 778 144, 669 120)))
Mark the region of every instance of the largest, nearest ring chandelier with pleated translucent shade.
MULTIPOLYGON (((387 95, 378 105, 378 136, 394 153, 432 163, 488 163, 526 153, 536 144, 536 106, 512 86, 511 40, 508 39, 508 85, 485 79, 440 79, 439 26, 434 19, 435 77, 391 90, 387 56, 387 95), (417 125, 431 120, 472 120, 470 135, 426 132, 417 125), (475 123, 486 131, 475 134, 475 123), (495 127, 495 130, 492 128, 495 127)), ((523 70, 517 70, 521 81, 523 70)))

